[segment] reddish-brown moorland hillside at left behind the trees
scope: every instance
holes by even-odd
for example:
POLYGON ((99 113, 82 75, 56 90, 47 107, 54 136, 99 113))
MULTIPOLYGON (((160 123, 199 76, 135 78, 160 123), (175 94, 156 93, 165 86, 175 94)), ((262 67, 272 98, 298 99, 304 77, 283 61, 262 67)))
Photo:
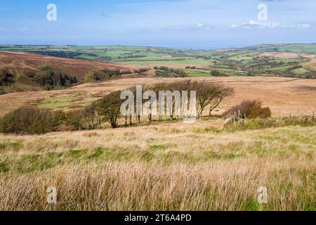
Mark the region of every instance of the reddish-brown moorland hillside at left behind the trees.
POLYGON ((59 88, 65 88, 71 85, 62 85, 60 76, 75 77, 77 82, 74 84, 80 84, 84 82, 88 72, 102 69, 124 70, 126 68, 105 62, 57 58, 34 53, 0 52, 0 73, 4 69, 14 75, 14 82, 7 85, 1 85, 0 83, 0 94, 47 90, 45 82, 43 84, 41 79, 51 79, 51 77, 48 77, 48 70, 55 73, 55 77, 51 79, 51 82, 56 82, 58 84, 56 85, 57 88, 58 86, 59 88), (44 71, 46 71, 46 74, 44 74, 44 71), (39 76, 35 77, 36 75, 39 76), (34 77, 37 79, 34 79, 34 77))

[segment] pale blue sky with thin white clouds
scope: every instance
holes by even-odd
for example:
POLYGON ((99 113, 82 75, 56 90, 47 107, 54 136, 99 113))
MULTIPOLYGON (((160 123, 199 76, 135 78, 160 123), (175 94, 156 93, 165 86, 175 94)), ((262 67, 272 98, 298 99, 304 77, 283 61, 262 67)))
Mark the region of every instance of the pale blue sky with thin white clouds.
POLYGON ((0 2, 0 44, 222 49, 314 43, 315 37, 315 0, 0 2))

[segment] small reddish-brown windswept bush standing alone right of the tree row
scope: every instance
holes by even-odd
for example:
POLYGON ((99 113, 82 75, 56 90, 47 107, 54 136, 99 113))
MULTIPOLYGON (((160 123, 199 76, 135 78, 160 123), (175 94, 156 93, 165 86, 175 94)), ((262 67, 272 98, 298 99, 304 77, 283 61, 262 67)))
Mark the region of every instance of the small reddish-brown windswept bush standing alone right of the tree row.
POLYGON ((254 119, 254 118, 268 118, 271 117, 270 108, 263 108, 262 102, 258 100, 253 101, 242 101, 238 105, 233 106, 225 113, 224 118, 235 117, 239 119, 254 119))

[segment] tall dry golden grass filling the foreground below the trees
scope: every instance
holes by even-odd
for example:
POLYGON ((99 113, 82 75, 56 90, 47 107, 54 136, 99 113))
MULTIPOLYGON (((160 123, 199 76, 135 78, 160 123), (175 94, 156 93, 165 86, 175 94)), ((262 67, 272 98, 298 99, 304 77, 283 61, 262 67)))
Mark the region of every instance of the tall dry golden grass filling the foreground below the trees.
POLYGON ((315 210, 315 127, 220 122, 0 135, 0 210, 315 210))

